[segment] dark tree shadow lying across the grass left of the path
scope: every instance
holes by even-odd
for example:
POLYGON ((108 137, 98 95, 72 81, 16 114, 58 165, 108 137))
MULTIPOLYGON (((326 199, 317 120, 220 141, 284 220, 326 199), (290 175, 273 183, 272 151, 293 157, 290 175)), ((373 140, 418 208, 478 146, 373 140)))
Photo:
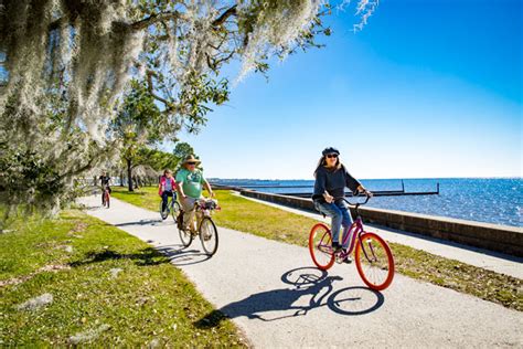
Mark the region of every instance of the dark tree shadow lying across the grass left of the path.
POLYGON ((70 266, 78 267, 110 260, 131 260, 139 266, 170 263, 169 258, 159 254, 157 250, 146 247, 138 251, 138 253, 119 253, 113 250, 93 251, 87 253, 84 258, 70 263, 70 266))

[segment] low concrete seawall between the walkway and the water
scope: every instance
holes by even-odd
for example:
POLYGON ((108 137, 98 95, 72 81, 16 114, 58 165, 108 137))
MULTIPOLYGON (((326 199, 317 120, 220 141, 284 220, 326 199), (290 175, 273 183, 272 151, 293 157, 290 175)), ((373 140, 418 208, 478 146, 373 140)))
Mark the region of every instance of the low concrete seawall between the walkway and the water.
MULTIPOLYGON (((291 208, 316 211, 310 199, 252 190, 241 190, 241 193, 245 197, 285 204, 291 208)), ((351 213, 354 216, 353 208, 351 208, 351 213)), ((519 257, 523 256, 523 229, 521 228, 374 208, 360 208, 360 214, 369 223, 502 252, 519 257)))

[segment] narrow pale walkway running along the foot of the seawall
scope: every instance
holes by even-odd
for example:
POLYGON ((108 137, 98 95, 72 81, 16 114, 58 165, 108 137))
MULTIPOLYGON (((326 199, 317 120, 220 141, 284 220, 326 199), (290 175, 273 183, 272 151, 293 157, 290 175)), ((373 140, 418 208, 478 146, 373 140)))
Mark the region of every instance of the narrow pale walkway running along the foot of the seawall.
MULTIPOLYGON (((321 214, 292 209, 289 207, 254 198, 242 198, 330 223, 330 219, 324 219, 321 214)), ((417 250, 429 252, 431 254, 440 255, 446 258, 460 261, 470 265, 479 266, 489 271, 511 275, 523 279, 523 258, 472 246, 467 246, 440 239, 433 239, 428 236, 421 236, 419 234, 407 233, 391 228, 383 228, 373 224, 366 225, 372 226, 372 231, 378 233, 387 241, 396 242, 399 244, 415 247, 417 250)))

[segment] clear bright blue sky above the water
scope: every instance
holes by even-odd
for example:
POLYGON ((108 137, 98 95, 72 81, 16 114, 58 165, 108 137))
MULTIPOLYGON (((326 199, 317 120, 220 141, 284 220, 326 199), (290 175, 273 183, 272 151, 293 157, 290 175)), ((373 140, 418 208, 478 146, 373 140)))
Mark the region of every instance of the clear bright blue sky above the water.
POLYGON ((522 2, 382 0, 355 33, 349 7, 180 138, 210 178, 312 179, 328 146, 361 179, 521 177, 522 2))

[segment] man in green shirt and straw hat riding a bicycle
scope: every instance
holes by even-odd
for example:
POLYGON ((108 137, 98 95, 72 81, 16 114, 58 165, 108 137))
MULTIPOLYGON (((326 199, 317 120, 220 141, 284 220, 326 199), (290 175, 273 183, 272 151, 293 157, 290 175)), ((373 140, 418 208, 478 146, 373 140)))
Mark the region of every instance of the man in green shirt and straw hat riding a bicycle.
POLYGON ((194 203, 202 199, 203 187, 211 197, 214 197, 211 184, 203 177, 203 171, 196 168, 201 161, 190 155, 177 173, 178 192, 183 209, 183 224, 186 229, 194 218, 194 203))

